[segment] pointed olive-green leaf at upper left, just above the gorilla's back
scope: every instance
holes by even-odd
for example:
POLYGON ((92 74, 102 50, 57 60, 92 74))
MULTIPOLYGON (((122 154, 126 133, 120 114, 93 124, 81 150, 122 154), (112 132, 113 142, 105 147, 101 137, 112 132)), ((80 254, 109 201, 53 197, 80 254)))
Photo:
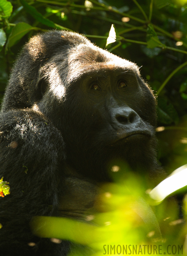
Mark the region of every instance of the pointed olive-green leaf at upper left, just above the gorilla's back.
POLYGON ((34 27, 25 22, 16 24, 9 35, 7 46, 10 48, 15 45, 26 33, 32 29, 34 29, 34 27))

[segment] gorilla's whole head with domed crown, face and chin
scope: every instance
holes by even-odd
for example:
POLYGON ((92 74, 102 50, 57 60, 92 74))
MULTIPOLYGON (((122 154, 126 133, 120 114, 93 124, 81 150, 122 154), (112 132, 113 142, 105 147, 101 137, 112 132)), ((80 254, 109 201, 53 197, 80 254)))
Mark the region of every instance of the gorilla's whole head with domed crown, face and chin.
POLYGON ((60 131, 67 163, 104 180, 115 160, 133 170, 157 168, 156 102, 134 63, 80 34, 50 31, 23 48, 3 101, 33 108, 60 131))

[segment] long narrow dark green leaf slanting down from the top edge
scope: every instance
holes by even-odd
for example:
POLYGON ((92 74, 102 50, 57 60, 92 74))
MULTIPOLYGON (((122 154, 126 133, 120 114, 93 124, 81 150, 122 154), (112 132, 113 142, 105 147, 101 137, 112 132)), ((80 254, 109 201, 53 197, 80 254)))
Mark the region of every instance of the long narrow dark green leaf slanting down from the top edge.
MULTIPOLYGON (((1 0, 0 0, 1 1, 1 0)), ((24 0, 20 0, 20 3, 23 5, 25 11, 27 13, 29 13, 35 20, 37 20, 38 22, 48 26, 48 27, 52 27, 52 28, 56 28, 56 25, 54 22, 52 22, 51 20, 48 20, 47 18, 45 18, 41 13, 39 13, 36 8, 34 8, 31 5, 28 5, 28 3, 26 3, 26 1, 24 0)))

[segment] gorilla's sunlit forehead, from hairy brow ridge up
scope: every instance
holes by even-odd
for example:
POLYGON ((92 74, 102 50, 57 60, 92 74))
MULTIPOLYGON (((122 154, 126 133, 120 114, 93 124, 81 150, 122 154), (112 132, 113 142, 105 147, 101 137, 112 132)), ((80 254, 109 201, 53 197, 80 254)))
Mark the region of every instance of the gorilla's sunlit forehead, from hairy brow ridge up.
POLYGON ((68 53, 67 62, 69 81, 100 71, 133 71, 139 75, 139 69, 135 63, 94 46, 92 43, 73 47, 68 53))

